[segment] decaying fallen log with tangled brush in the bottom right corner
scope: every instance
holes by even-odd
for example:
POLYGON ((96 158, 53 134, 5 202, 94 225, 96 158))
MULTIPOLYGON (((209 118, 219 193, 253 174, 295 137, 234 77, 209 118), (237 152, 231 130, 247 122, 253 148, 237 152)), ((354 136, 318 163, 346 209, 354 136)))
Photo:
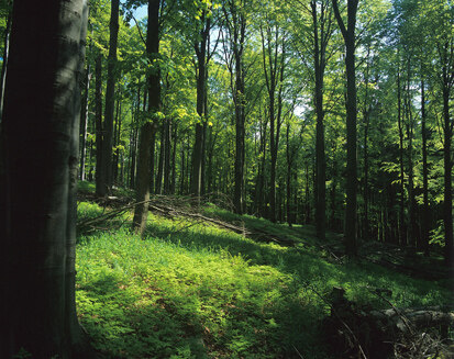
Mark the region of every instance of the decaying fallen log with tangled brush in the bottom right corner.
POLYGON ((447 308, 372 310, 345 299, 344 290, 334 288, 330 300, 331 315, 324 319, 323 333, 339 358, 381 359, 427 358, 421 352, 444 352, 451 358, 443 336, 454 327, 454 313, 447 308), (402 356, 399 356, 402 354, 402 356))

